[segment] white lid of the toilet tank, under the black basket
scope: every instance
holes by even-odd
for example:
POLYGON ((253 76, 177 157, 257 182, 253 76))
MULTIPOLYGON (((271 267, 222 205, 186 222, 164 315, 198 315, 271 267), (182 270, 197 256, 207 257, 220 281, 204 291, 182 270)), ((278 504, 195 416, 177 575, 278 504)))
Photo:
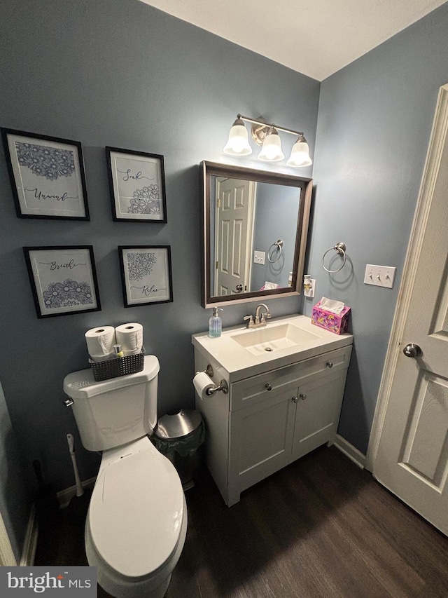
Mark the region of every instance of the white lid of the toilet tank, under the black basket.
POLYGON ((145 355, 144 368, 141 372, 110 378, 102 382, 95 381, 91 368, 80 369, 78 372, 72 372, 65 376, 64 393, 72 399, 88 399, 118 388, 148 382, 157 376, 159 369, 159 360, 155 355, 145 355))

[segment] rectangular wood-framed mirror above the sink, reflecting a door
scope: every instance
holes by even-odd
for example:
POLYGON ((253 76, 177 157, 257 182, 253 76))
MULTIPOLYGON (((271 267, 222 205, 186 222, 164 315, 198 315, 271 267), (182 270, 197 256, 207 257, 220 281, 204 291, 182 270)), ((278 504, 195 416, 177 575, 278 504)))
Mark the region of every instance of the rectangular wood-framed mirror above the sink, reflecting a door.
POLYGON ((300 294, 312 179, 201 164, 202 306, 300 294))

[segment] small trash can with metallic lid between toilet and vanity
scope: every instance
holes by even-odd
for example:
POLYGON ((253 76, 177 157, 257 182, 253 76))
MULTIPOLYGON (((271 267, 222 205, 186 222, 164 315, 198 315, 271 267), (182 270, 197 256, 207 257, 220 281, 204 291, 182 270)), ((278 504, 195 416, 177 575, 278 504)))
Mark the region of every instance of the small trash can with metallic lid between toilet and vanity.
POLYGON ((202 465, 205 426, 200 412, 179 409, 162 416, 154 430, 155 447, 169 458, 184 490, 195 485, 202 465))

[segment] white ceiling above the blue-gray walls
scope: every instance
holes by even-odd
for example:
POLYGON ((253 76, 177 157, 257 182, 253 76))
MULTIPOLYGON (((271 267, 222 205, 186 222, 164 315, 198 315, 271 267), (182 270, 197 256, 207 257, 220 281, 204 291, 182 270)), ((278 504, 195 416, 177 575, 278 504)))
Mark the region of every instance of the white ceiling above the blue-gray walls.
POLYGON ((142 0, 322 81, 447 0, 142 0))

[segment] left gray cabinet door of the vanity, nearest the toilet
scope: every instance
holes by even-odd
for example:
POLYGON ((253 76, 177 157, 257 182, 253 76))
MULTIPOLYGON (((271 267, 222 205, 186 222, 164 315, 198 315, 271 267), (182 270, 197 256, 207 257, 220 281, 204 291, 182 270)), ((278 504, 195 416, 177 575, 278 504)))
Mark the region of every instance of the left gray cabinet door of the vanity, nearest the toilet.
POLYGON ((290 462, 297 384, 230 416, 229 490, 238 494, 290 462))

